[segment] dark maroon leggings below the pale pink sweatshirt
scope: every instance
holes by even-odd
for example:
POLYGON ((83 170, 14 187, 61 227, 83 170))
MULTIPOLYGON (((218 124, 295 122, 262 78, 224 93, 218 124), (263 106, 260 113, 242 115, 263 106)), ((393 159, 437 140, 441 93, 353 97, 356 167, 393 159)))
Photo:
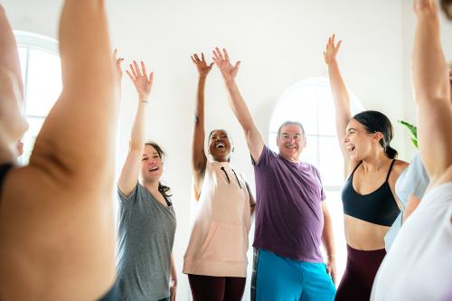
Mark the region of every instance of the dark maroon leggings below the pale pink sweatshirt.
POLYGON ((193 301, 240 301, 246 277, 188 275, 193 301))

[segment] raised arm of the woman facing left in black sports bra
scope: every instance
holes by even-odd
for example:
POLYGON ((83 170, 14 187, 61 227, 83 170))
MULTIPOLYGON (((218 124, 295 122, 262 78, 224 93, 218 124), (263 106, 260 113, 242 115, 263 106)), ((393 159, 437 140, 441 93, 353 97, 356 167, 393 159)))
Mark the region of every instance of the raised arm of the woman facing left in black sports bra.
POLYGON ((329 37, 325 47, 324 58, 326 65, 328 65, 328 76, 333 93, 337 139, 344 155, 345 166, 350 166, 352 163, 350 162, 347 149, 344 146, 343 137, 347 129, 347 124, 352 118, 352 113, 348 91, 336 61, 337 52, 339 52, 341 43, 342 41, 334 42, 334 34, 329 37))

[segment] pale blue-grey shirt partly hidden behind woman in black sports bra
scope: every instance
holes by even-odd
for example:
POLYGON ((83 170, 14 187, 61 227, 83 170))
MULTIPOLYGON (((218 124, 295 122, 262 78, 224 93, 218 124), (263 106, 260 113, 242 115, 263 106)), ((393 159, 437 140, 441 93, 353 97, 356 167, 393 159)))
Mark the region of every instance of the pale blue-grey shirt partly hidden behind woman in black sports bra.
POLYGON ((408 199, 410 194, 415 195, 419 199, 424 195, 430 179, 428 178, 427 171, 425 170, 422 160, 420 160, 419 153, 414 156, 411 160, 410 165, 405 168, 403 173, 399 175, 396 181, 395 191, 399 197, 403 208, 397 217, 397 219, 392 223, 391 229, 386 233, 384 237, 385 249, 389 251, 391 249, 392 243, 396 239, 399 233, 401 222, 403 218, 403 213, 407 207, 408 199))

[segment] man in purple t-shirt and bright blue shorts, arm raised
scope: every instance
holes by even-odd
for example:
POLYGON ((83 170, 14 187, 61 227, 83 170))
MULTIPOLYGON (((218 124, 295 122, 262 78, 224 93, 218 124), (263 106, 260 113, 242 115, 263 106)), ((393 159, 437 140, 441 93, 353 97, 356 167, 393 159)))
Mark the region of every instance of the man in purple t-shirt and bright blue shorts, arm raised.
POLYGON ((256 175, 251 300, 333 300, 331 218, 317 169, 299 161, 306 146, 303 126, 284 123, 278 130, 279 153, 271 151, 235 83, 240 62, 232 66, 224 49, 217 48, 213 54, 230 94, 232 111, 245 132, 256 175), (322 241, 326 265, 319 248, 322 241))

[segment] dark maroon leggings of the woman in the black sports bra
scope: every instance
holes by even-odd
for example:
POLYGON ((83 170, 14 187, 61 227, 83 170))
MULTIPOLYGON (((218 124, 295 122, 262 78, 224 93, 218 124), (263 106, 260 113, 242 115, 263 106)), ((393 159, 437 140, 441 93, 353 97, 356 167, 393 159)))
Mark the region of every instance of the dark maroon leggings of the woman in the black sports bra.
POLYGON ((385 249, 360 250, 347 245, 347 266, 334 300, 368 301, 385 249))

